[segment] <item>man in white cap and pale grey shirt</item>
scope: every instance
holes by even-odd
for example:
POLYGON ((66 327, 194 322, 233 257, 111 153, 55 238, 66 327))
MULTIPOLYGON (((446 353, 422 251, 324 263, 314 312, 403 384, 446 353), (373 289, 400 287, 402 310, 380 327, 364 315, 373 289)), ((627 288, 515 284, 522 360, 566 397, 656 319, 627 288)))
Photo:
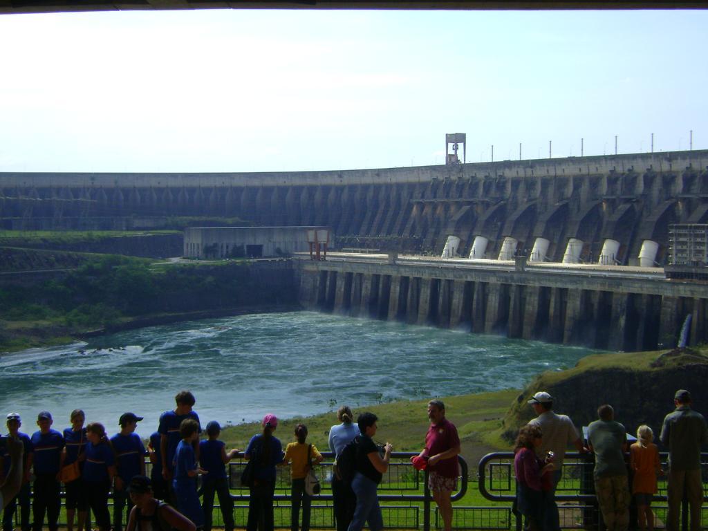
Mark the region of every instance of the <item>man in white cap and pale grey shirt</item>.
POLYGON ((553 412, 553 396, 545 391, 539 391, 528 401, 528 404, 531 404, 538 415, 529 424, 540 426, 543 431, 543 442, 536 449, 537 455, 543 459, 548 452, 554 454, 552 460, 555 469, 552 472, 552 488, 545 496, 543 528, 548 531, 559 531, 561 525, 555 496, 556 486, 558 486, 563 472, 561 467, 563 467, 563 459, 566 456, 566 448, 569 445, 575 445, 578 452, 587 452, 588 450, 583 447, 580 433, 570 417, 553 412))

